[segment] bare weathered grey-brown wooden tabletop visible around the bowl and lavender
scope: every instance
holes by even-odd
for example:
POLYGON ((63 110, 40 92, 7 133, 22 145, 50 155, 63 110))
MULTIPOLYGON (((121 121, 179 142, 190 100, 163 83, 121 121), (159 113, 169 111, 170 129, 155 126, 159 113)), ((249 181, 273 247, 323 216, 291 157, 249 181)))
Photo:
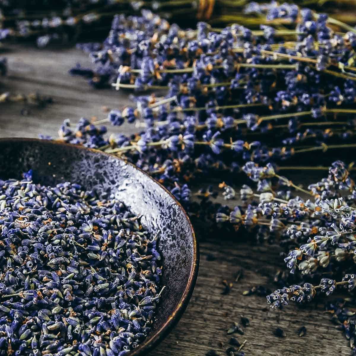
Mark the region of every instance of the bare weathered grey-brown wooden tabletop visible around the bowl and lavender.
MULTIPOLYGON (((9 59, 9 75, 0 79, 0 93, 39 91, 51 95, 54 103, 45 109, 29 107, 30 114, 22 116, 22 104, 0 104, 0 137, 37 137, 38 133, 56 136, 64 119, 76 122, 80 117, 103 119, 102 107, 121 108, 130 102, 127 93, 115 90, 91 89, 82 78, 70 77, 67 72, 76 62, 89 65, 87 55, 73 48, 38 50, 30 45, 12 45, 2 51, 9 59)), ((124 125, 122 132, 135 131, 124 125)), ((271 276, 283 267, 276 246, 254 246, 236 241, 236 236, 198 236, 200 240, 200 269, 197 285, 187 311, 171 334, 152 352, 152 356, 198 356, 214 349, 225 355, 229 337, 226 330, 232 321, 244 315, 251 320, 245 335, 246 355, 350 355, 348 341, 329 321, 330 314, 323 305, 290 305, 284 310, 271 311, 266 300, 242 293, 262 284, 273 289, 271 276), (216 257, 208 261, 206 256, 216 257), (227 295, 222 295, 221 281, 234 281, 234 274, 244 269, 244 278, 234 283, 227 295), (298 337, 300 326, 307 335, 298 337), (273 335, 281 327, 287 337, 273 335), (223 345, 223 346, 222 346, 223 345)))

